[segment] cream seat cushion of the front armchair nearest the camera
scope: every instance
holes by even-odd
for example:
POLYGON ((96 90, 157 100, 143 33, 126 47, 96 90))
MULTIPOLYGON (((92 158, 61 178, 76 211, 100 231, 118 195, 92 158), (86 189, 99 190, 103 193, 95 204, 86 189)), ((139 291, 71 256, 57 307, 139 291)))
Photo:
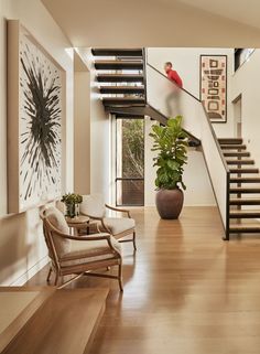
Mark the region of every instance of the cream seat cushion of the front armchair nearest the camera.
MULTIPOLYGON (((107 234, 98 234, 95 236, 102 236, 107 234)), ((91 235, 94 236, 94 235, 91 235)), ((110 236, 112 246, 121 253, 120 244, 110 236)), ((115 253, 109 247, 106 239, 100 240, 72 240, 71 250, 63 255, 62 266, 73 266, 84 262, 98 261, 104 259, 115 258, 115 253)))

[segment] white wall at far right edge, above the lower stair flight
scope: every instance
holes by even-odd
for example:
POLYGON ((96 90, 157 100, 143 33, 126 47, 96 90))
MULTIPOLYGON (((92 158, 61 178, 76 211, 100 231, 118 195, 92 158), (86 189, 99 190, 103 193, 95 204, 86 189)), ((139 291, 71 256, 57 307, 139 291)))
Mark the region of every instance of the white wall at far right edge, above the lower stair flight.
POLYGON ((241 95, 241 136, 260 167, 260 50, 256 50, 248 62, 238 68, 231 81, 231 97, 241 95))

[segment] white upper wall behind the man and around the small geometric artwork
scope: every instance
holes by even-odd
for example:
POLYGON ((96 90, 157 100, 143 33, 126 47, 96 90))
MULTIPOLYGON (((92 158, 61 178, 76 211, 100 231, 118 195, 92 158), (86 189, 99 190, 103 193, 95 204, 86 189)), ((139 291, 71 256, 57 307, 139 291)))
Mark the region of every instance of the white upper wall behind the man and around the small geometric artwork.
MULTIPOLYGON (((155 47, 148 49, 148 63, 153 65, 160 72, 164 73, 165 62, 172 62, 183 79, 183 86, 186 90, 199 98, 199 56, 201 54, 224 54, 228 56, 227 65, 227 97, 230 97, 230 78, 234 67, 234 50, 231 49, 205 49, 205 47, 155 47)), ((227 124, 214 124, 217 137, 234 136, 234 111, 230 100, 227 105, 227 124)))

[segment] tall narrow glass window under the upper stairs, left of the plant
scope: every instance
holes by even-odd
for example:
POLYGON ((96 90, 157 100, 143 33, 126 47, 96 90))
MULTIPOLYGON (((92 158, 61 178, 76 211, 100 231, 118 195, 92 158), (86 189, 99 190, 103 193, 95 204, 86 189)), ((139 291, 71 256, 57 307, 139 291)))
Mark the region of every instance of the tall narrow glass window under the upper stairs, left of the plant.
POLYGON ((144 205, 144 120, 117 118, 117 205, 144 205))

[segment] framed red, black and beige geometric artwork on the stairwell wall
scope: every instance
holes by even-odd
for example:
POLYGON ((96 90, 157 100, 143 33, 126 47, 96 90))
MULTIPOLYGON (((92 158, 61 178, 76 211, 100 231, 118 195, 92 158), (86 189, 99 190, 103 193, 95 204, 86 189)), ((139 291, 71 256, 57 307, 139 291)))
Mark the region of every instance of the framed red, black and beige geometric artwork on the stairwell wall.
POLYGON ((201 55, 201 100, 213 122, 227 121, 227 55, 201 55))

